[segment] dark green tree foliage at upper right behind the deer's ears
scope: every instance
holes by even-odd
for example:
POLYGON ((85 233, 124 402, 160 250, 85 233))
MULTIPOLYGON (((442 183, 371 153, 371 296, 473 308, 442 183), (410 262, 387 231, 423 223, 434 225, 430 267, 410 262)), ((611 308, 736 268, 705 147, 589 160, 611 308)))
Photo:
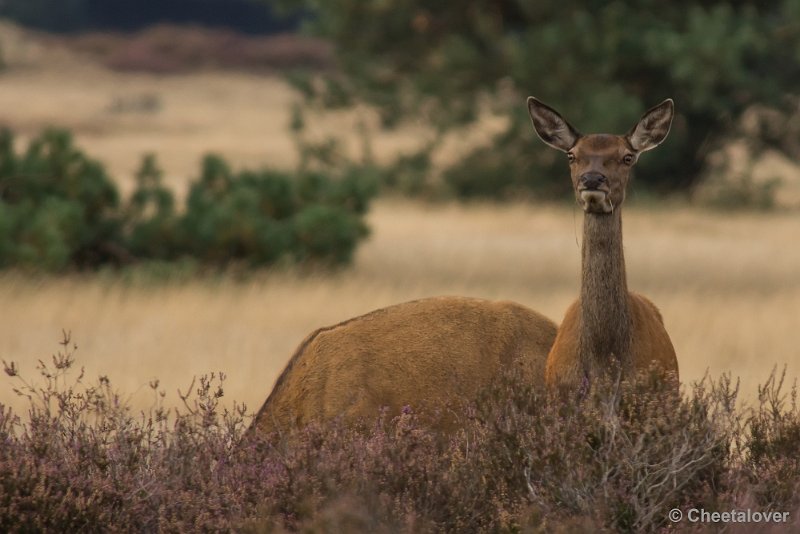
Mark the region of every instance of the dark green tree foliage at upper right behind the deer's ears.
MULTIPOLYGON (((508 117, 490 148, 445 172, 463 196, 569 193, 557 154, 534 144, 528 94, 580 131, 614 133, 672 97, 672 133, 637 167, 646 180, 639 187, 667 191, 700 180, 708 155, 734 134, 745 110, 788 111, 800 77, 797 0, 283 4, 315 13, 312 31, 338 51, 341 72, 326 83, 295 75, 311 100, 358 99, 375 105, 386 125, 411 117, 442 131, 484 111, 508 117)), ((786 138, 768 141, 791 149, 786 138)))

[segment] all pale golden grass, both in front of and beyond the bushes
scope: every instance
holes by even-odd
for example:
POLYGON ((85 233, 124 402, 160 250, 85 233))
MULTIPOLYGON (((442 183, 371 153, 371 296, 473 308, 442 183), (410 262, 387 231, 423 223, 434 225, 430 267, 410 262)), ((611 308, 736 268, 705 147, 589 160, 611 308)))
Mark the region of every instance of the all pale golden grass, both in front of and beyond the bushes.
MULTIPOLYGON (((238 165, 294 161, 285 129, 294 96, 277 79, 113 74, 65 52, 41 54, 33 44, 20 54, 28 63, 0 83, 0 123, 21 141, 51 124, 74 129, 123 191, 147 151, 159 154, 178 190, 209 150, 238 165), (148 95, 160 111, 114 111, 116 102, 148 95)), ((310 127, 355 132, 356 120, 325 117, 310 127)), ((409 128, 378 136, 376 153, 387 157, 424 133, 409 128)), ((568 207, 532 203, 382 200, 354 267, 335 275, 272 273, 175 285, 0 275, 0 357, 30 376, 66 329, 88 378, 108 375, 137 407, 152 401, 153 378, 168 392, 167 403, 176 403, 175 389, 193 375, 222 370, 226 397, 257 409, 308 332, 374 308, 458 294, 512 299, 559 321, 578 291, 581 217, 568 207)), ((629 207, 624 225, 630 285, 661 308, 684 382, 706 370, 731 372, 752 397, 773 366, 788 365, 792 377, 800 373, 796 212, 629 207)), ((0 402, 18 404, 11 384, 0 381, 0 402)))

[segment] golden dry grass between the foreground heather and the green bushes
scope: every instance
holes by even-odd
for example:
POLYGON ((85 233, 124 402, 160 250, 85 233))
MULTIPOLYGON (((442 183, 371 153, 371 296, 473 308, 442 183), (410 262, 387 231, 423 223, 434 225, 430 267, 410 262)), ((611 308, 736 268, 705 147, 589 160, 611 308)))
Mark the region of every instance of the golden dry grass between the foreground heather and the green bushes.
MULTIPOLYGON (((307 333, 374 308, 457 294, 512 299, 559 320, 577 294, 580 218, 532 205, 382 201, 372 239, 338 275, 175 286, 6 275, 0 354, 30 376, 63 328, 88 377, 108 375, 136 406, 152 401, 153 378, 176 403, 193 375, 222 370, 227 398, 257 409, 307 333)), ((796 214, 636 208, 624 219, 630 285, 660 306, 684 383, 730 372, 753 398, 773 366, 800 373, 796 214)), ((10 387, 0 401, 13 401, 10 387)))

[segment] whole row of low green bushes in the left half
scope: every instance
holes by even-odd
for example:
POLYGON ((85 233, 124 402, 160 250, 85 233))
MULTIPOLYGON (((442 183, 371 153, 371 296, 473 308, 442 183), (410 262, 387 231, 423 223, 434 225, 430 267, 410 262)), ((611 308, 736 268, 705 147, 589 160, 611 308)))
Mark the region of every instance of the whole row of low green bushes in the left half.
POLYGON ((368 166, 235 173, 209 155, 181 210, 162 175, 146 155, 120 205, 102 165, 68 132, 45 132, 22 156, 11 133, 0 133, 0 267, 63 271, 187 258, 213 267, 284 258, 343 265, 367 235, 362 218, 376 193, 368 166))

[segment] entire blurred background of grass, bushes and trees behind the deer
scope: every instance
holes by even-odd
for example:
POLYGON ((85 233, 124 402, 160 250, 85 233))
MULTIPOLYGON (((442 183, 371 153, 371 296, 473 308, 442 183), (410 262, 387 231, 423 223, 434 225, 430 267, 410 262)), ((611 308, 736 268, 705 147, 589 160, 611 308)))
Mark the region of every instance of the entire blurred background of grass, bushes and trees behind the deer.
POLYGON ((222 370, 255 410, 306 334, 378 307, 559 321, 582 214, 525 98, 624 133, 671 97, 629 283, 685 384, 752 398, 800 369, 798 87, 795 0, 0 0, 0 357, 35 375, 63 329, 136 407, 222 370))

